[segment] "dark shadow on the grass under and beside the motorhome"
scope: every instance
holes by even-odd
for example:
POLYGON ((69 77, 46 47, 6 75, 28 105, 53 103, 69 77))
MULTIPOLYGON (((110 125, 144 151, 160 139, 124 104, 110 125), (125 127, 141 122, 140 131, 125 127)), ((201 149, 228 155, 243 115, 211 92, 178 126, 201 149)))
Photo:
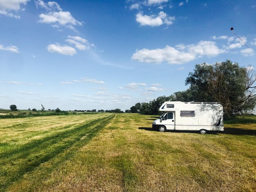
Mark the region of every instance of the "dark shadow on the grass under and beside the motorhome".
MULTIPOLYGON (((144 129, 146 131, 155 131, 157 130, 153 129, 152 127, 139 127, 139 129, 144 129)), ((199 134, 198 131, 186 131, 186 130, 166 130, 166 132, 172 132, 172 133, 195 133, 199 134)), ((256 135, 256 130, 250 130, 250 129, 240 129, 240 128, 225 128, 222 132, 211 132, 208 131, 207 134, 229 134, 229 135, 256 135)))

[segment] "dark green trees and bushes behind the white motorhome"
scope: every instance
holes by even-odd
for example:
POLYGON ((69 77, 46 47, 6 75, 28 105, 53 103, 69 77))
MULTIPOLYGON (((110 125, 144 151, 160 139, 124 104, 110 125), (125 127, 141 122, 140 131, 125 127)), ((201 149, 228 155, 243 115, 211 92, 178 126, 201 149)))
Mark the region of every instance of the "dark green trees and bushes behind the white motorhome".
POLYGON ((226 60, 222 63, 195 65, 185 80, 189 89, 160 96, 149 103, 136 103, 132 113, 159 114, 165 101, 219 102, 226 118, 251 112, 256 106, 256 72, 251 66, 239 67, 226 60))

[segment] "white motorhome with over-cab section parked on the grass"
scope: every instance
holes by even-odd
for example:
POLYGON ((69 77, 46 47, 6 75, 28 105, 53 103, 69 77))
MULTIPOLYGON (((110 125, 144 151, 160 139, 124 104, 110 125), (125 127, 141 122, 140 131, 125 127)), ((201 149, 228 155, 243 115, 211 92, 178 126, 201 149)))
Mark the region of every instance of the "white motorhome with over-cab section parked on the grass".
POLYGON ((159 132, 191 130, 206 134, 207 131, 224 131, 220 103, 166 101, 159 111, 164 114, 152 124, 159 132))

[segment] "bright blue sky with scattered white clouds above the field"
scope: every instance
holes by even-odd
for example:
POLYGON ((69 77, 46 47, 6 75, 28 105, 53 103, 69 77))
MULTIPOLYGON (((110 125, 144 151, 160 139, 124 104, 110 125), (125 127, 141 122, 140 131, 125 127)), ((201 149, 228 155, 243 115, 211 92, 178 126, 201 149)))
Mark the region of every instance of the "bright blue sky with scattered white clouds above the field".
POLYGON ((255 0, 0 0, 0 26, 5 109, 126 110, 195 64, 256 65, 255 0))

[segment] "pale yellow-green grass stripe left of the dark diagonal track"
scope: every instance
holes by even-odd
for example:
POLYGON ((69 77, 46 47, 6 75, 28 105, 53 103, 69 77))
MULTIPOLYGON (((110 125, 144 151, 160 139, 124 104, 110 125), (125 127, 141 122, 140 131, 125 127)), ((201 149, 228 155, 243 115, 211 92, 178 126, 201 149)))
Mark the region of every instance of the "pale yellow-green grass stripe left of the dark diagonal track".
POLYGON ((41 117, 42 119, 38 117, 14 120, 7 119, 6 121, 0 119, 0 152, 2 151, 1 144, 8 143, 10 147, 15 148, 16 145, 28 143, 31 140, 38 139, 38 137, 51 135, 54 132, 61 132, 63 131, 63 127, 67 125, 83 125, 102 116, 104 115, 94 114, 92 116, 86 114, 82 116, 71 115, 61 119, 55 116, 41 117))

